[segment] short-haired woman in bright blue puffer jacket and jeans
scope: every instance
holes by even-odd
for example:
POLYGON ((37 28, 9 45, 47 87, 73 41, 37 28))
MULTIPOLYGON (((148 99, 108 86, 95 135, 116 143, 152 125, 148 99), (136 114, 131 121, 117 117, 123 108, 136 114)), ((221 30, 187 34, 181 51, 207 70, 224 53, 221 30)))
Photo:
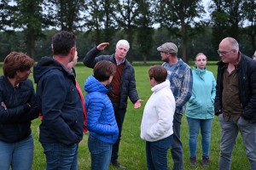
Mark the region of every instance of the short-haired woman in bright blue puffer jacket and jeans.
POLYGON ((94 76, 84 82, 91 169, 108 169, 112 147, 119 135, 113 105, 107 95, 115 71, 116 66, 112 62, 99 61, 94 67, 94 76))

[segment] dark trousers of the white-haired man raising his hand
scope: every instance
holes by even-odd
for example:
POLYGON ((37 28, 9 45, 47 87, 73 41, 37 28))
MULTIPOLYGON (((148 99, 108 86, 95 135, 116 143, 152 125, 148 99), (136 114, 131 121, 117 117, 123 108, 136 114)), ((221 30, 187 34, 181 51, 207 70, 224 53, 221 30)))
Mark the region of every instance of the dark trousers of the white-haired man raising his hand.
POLYGON ((122 127, 125 119, 126 109, 119 109, 119 103, 113 103, 113 111, 114 111, 116 123, 119 127, 119 137, 116 140, 115 144, 113 144, 113 150, 112 150, 112 156, 111 156, 112 162, 117 161, 119 157, 119 143, 121 139, 122 127))

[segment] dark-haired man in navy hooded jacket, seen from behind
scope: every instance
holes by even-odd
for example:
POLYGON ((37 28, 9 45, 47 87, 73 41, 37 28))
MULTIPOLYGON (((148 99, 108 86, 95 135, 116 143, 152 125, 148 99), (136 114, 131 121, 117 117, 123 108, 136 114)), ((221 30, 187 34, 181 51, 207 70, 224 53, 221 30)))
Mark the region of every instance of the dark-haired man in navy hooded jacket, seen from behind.
POLYGON ((46 169, 78 169, 84 111, 75 77, 69 72, 76 39, 73 33, 61 31, 54 35, 52 43, 54 59, 42 58, 33 70, 43 115, 39 141, 44 148, 46 169))

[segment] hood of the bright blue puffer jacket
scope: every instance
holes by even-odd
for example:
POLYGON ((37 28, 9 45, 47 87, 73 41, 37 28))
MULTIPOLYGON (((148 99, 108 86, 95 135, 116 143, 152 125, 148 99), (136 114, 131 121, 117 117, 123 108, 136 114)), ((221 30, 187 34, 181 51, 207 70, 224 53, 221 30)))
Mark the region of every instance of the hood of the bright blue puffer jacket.
POLYGON ((107 94, 110 89, 106 88, 102 82, 96 80, 96 78, 91 75, 84 82, 84 90, 86 92, 101 92, 107 94))

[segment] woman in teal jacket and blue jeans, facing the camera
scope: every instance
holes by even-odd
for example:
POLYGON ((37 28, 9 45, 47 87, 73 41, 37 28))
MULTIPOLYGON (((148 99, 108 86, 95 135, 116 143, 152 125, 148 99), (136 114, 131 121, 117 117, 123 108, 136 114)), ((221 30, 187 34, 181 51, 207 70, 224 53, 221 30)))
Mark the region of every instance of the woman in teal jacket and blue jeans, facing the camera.
POLYGON ((214 117, 213 103, 216 95, 216 81, 211 71, 207 71, 207 56, 197 54, 193 73, 192 96, 186 109, 189 123, 189 164, 196 165, 196 144, 201 128, 202 161, 201 165, 209 164, 209 148, 211 128, 214 117))

